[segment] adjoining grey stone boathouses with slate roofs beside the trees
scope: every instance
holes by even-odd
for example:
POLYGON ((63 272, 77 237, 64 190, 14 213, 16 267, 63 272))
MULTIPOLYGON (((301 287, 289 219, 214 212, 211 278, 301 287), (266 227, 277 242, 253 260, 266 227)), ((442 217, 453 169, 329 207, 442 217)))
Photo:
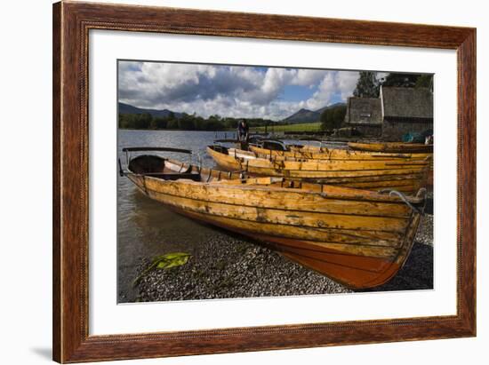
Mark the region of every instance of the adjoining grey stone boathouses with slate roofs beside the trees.
POLYGON ((365 136, 402 140, 433 129, 433 93, 426 88, 381 87, 379 98, 349 98, 345 125, 365 136))

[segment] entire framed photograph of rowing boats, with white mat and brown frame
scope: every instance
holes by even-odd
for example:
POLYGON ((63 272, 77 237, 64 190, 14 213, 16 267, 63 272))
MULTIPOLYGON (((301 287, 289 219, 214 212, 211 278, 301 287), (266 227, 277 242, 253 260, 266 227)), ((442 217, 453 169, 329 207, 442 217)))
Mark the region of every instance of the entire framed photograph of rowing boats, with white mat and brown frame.
POLYGON ((53 5, 53 360, 476 336, 476 29, 53 5))

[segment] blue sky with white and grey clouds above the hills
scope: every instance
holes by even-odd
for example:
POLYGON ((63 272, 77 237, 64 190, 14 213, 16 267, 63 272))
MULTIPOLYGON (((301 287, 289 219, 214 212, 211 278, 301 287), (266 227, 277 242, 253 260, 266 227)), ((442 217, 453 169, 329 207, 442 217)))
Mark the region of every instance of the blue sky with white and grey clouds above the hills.
POLYGON ((358 72, 119 61, 119 101, 188 114, 280 120, 345 101, 358 72))

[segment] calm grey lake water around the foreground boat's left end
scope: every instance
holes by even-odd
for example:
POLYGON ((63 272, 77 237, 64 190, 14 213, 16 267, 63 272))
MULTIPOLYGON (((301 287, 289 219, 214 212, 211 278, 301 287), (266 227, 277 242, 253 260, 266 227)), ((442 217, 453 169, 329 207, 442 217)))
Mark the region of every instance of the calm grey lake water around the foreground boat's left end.
MULTIPOLYGON (((222 133, 219 138, 224 138, 222 133)), ((123 147, 178 147, 198 152, 204 166, 214 167, 212 158, 205 153, 205 147, 212 145, 213 139, 213 131, 119 130, 117 148, 123 166, 123 147)), ((188 155, 162 155, 189 161, 188 155)), ((117 225, 118 302, 133 302, 136 298, 132 280, 141 258, 175 251, 192 254, 198 250, 199 242, 223 234, 164 208, 160 202, 141 194, 129 179, 121 177, 117 179, 117 225)))

